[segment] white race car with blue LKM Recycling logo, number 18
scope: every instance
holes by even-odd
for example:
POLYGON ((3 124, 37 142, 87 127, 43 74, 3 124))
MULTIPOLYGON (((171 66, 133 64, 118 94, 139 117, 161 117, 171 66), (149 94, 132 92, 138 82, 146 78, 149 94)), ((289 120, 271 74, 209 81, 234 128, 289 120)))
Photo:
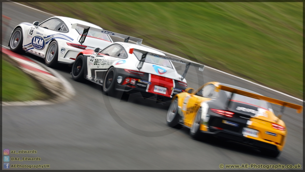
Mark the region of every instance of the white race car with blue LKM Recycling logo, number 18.
MULTIPOLYGON (((51 17, 39 24, 38 21, 18 24, 9 39, 8 46, 13 52, 23 51, 45 58, 45 64, 72 64, 79 52, 94 47, 105 48, 113 43, 109 35, 120 38, 128 36, 103 30, 101 27, 69 17, 51 17), (79 23, 72 29, 73 23, 79 23), (86 29, 82 28, 86 25, 86 29), (90 30, 90 27, 101 31, 90 30), (114 35, 115 34, 115 35, 114 35)), ((131 37, 132 39, 132 37, 131 37)), ((136 40, 138 41, 138 40, 136 40)))

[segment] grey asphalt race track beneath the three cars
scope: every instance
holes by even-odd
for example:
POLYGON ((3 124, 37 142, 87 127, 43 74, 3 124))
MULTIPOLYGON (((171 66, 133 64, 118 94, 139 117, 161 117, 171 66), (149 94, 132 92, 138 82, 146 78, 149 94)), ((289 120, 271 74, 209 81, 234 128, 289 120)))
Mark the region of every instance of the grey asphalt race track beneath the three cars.
MULTIPOLYGON (((2 14, 11 18, 2 40, 4 46, 17 24, 42 22, 52 17, 11 2, 2 2, 2 14)), ((26 55, 44 63, 42 58, 26 55)), ((179 69, 179 65, 176 67, 179 69)), ((183 66, 180 69, 182 72, 183 66)), ((286 108, 283 115, 288 138, 282 154, 274 159, 260 155, 257 150, 214 138, 193 140, 188 129, 167 127, 166 104, 144 100, 135 94, 128 101, 106 96, 97 84, 72 80, 71 67, 61 65, 56 71, 73 85, 76 95, 71 100, 47 106, 2 107, 2 149, 37 150, 37 154, 10 154, 10 157, 41 158, 37 162, 10 161, 10 164, 50 164, 52 170, 207 170, 219 169, 220 164, 299 163, 303 169, 303 114, 293 109, 286 108)), ((204 83, 234 84, 268 97, 303 104, 212 69, 205 68, 203 78, 204 83)), ((202 77, 190 68, 186 79, 188 87, 197 89, 202 77)), ((273 105, 273 108, 277 114, 279 107, 273 105)))

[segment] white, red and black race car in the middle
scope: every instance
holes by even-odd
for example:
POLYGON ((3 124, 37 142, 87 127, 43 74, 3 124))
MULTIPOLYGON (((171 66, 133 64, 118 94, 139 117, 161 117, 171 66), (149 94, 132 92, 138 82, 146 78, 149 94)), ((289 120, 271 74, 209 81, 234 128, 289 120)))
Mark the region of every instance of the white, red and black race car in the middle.
POLYGON ((113 43, 103 50, 96 48, 80 52, 72 66, 72 78, 100 84, 106 94, 115 90, 141 92, 145 98, 154 97, 163 102, 185 91, 185 76, 191 64, 203 71, 204 65, 171 58, 160 51, 138 45, 139 42, 133 44, 127 41, 113 43), (186 65, 182 75, 178 74, 172 62, 186 65))

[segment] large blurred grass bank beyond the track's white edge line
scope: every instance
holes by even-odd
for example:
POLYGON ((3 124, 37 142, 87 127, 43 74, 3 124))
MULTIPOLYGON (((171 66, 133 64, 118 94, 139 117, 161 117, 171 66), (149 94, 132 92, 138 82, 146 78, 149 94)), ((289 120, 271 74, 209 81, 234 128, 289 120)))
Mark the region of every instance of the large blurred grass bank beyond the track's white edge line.
POLYGON ((25 4, 303 98, 302 2, 25 4))

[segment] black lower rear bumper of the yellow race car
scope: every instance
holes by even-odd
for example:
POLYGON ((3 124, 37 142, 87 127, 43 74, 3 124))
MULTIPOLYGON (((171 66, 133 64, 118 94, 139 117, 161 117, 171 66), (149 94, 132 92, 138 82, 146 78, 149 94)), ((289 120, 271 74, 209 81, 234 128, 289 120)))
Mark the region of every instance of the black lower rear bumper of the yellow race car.
POLYGON ((269 144, 269 143, 262 142, 259 140, 247 138, 247 137, 244 137, 241 133, 236 133, 236 132, 232 132, 232 131, 225 130, 225 129, 224 130, 218 130, 218 129, 213 129, 213 128, 209 128, 209 129, 211 132, 202 131, 202 130, 201 130, 201 132, 210 134, 213 136, 217 136, 217 137, 223 138, 225 140, 230 140, 233 142, 244 144, 246 146, 254 147, 254 148, 267 149, 270 151, 278 151, 277 146, 274 144, 269 144))

